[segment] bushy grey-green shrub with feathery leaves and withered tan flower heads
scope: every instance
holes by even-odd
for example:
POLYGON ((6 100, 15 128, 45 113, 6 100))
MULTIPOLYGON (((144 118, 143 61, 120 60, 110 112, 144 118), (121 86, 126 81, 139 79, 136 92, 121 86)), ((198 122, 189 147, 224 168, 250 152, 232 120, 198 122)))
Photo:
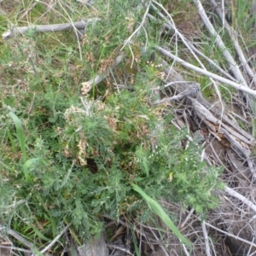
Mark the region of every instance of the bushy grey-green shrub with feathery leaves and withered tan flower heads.
MULTIPOLYGON (((106 102, 84 97, 67 108, 63 127, 57 119, 53 134, 27 145, 26 172, 22 160, 9 163, 15 175, 7 170, 1 193, 6 196, 16 186, 13 200, 27 200, 15 214, 32 226, 45 216, 56 224, 66 219, 80 236, 89 237, 100 230, 103 214, 143 214, 146 205, 131 183, 155 200, 168 198, 198 213, 216 207, 212 192, 219 189, 220 170, 201 162, 197 143, 183 149, 186 132, 170 125, 171 113, 161 116, 146 100, 147 93, 123 90, 106 102)), ((11 122, 8 129, 15 141, 11 122)))

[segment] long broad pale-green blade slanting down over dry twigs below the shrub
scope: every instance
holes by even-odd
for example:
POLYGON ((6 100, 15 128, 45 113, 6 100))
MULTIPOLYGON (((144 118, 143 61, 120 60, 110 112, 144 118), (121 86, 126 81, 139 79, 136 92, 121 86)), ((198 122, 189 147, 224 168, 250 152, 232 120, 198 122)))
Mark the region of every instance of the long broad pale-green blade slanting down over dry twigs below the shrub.
POLYGON ((152 212, 154 212, 155 214, 157 214, 161 220, 170 228, 170 230, 172 230, 172 232, 175 234, 175 236, 177 236, 177 238, 182 241, 184 244, 186 244, 190 249, 192 249, 192 244, 191 242, 185 238, 179 230, 177 230, 177 227, 175 226, 175 224, 173 224, 171 218, 168 217, 168 215, 166 214, 166 212, 163 210, 162 207, 160 207, 160 204, 157 201, 154 201, 154 199, 152 199, 151 197, 149 197, 144 191, 143 189, 141 189, 140 187, 138 187, 136 184, 131 184, 132 189, 134 189, 135 191, 137 191, 140 195, 143 196, 143 199, 147 202, 148 207, 151 209, 152 212))

